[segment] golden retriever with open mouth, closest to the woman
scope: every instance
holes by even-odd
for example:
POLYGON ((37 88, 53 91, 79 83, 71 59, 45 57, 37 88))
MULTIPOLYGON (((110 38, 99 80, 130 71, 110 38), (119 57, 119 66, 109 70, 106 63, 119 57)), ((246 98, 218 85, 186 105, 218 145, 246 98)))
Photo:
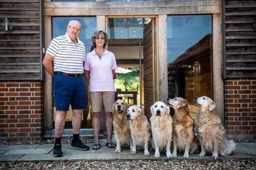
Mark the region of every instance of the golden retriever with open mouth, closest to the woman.
MULTIPOLYGON (((115 152, 121 152, 121 146, 132 149, 132 138, 129 129, 129 121, 126 118, 126 111, 130 107, 124 100, 118 99, 113 104, 113 125, 114 125, 114 139, 116 141, 115 152)), ((112 141, 115 143, 115 141, 112 141)))

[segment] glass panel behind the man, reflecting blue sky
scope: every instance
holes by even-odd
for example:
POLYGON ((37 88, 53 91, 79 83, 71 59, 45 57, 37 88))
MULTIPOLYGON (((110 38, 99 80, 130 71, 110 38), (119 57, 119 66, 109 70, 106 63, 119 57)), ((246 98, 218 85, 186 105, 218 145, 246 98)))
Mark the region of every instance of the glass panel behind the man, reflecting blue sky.
MULTIPOLYGON (((60 35, 64 35, 66 33, 66 27, 70 20, 78 20, 82 24, 82 30, 79 35, 79 39, 83 41, 86 47, 86 53, 92 51, 93 45, 91 40, 91 35, 97 30, 96 27, 96 17, 52 17, 52 37, 58 37, 60 35)), ((86 85, 86 93, 88 99, 88 86, 86 85)), ((55 121, 56 118, 56 107, 55 107, 55 99, 53 99, 53 117, 55 121)), ((88 102, 88 100, 87 100, 88 102)), ((88 104, 87 104, 88 106, 88 104)), ((72 129, 72 110, 70 106, 70 110, 68 111, 68 115, 66 117, 66 129, 72 129)), ((89 112, 89 106, 87 109, 83 111, 82 117, 82 128, 92 128, 92 115, 89 112)))

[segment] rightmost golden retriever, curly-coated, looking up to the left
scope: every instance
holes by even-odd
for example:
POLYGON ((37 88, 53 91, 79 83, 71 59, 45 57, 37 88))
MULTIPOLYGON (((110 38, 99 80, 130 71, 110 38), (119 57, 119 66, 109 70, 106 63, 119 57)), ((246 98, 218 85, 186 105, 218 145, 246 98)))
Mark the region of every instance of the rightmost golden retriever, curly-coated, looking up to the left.
POLYGON ((229 155, 235 149, 236 144, 228 140, 221 120, 215 114, 216 103, 206 96, 196 97, 194 102, 200 107, 199 115, 195 120, 201 145, 201 152, 198 156, 205 156, 206 151, 212 153, 214 160, 218 158, 218 154, 229 155))

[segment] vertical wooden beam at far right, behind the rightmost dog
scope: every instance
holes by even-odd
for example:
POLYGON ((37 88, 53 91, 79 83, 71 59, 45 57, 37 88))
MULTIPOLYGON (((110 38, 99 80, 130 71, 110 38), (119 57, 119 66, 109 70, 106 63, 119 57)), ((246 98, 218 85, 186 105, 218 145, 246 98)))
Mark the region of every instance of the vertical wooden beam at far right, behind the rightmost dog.
POLYGON ((217 104, 216 114, 224 124, 224 82, 221 76, 222 68, 222 31, 220 14, 212 15, 212 58, 213 58, 213 91, 214 102, 217 104))

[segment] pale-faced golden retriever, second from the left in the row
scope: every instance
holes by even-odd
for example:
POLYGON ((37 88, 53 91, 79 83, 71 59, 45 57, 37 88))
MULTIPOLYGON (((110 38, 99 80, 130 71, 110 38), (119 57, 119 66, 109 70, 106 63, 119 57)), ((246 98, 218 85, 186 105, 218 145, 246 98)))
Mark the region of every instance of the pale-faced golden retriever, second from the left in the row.
POLYGON ((147 117, 144 115, 144 111, 139 106, 132 105, 128 108, 126 117, 129 120, 133 143, 130 154, 136 154, 136 147, 144 147, 144 155, 149 156, 148 146, 151 142, 151 127, 147 117))

